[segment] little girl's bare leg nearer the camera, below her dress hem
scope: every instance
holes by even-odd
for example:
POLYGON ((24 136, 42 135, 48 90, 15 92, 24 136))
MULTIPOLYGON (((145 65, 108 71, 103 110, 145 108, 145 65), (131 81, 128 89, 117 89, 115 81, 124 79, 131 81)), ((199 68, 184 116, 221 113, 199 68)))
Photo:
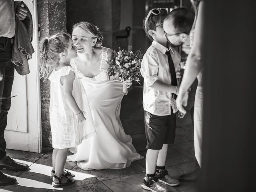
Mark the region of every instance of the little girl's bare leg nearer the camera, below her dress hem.
MULTIPOLYGON (((66 164, 67 156, 68 156, 69 148, 66 149, 58 149, 56 154, 56 162, 55 162, 55 175, 60 177, 63 174, 64 166, 66 164)), ((66 178, 63 178, 66 180, 66 178)), ((56 178, 53 178, 54 182, 58 182, 56 178)), ((65 181, 63 181, 65 182, 65 181)))

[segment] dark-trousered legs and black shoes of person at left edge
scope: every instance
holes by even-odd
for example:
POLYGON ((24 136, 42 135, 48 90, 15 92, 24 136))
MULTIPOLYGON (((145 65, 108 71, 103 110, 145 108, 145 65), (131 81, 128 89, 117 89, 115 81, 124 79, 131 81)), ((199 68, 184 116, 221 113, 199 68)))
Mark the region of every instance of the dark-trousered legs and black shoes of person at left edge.
MULTIPOLYGON (((14 64, 12 59, 12 42, 10 38, 0 37, 0 71, 3 75, 0 81, 0 169, 6 168, 13 171, 27 170, 28 165, 15 162, 6 156, 6 141, 4 130, 7 125, 7 115, 11 106, 12 84, 14 81, 14 64)), ((0 186, 15 184, 16 179, 8 177, 0 172, 0 186)))

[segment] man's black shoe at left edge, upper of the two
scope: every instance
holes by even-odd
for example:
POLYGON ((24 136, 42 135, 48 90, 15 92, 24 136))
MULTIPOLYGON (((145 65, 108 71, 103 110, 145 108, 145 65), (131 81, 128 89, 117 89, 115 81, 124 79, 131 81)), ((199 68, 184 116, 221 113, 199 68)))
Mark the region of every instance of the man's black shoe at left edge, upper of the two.
POLYGON ((0 169, 4 168, 11 171, 25 171, 28 169, 28 165, 15 162, 10 156, 5 156, 0 160, 0 169))

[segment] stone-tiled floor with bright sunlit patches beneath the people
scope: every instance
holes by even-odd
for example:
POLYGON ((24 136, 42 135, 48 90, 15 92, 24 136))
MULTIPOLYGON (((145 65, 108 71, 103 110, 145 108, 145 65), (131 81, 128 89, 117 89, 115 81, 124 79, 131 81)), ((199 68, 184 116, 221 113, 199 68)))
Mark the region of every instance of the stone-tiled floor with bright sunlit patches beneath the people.
MULTIPOLYGON (((121 109, 121 120, 126 134, 131 135, 136 150, 145 157, 146 137, 142 108, 142 87, 130 88, 124 96, 121 109)), ((8 155, 19 162, 26 162, 30 168, 24 172, 1 170, 14 176, 17 184, 2 186, 2 192, 146 192, 141 184, 145 176, 145 159, 137 160, 124 169, 82 170, 73 162, 66 163, 76 182, 63 188, 53 188, 49 178, 52 165, 52 151, 41 154, 16 150, 7 150, 8 155)), ((169 174, 178 178, 195 168, 193 128, 191 118, 186 115, 177 120, 176 140, 168 148, 166 169, 169 174)), ((171 192, 196 192, 196 183, 181 182, 177 187, 170 187, 171 192)))

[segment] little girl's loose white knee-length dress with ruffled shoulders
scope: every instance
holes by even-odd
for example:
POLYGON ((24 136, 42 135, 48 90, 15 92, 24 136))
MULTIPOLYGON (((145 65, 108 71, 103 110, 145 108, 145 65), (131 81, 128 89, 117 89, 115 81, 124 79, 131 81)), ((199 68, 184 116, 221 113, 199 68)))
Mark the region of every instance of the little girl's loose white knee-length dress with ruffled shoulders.
POLYGON ((83 74, 70 66, 53 70, 49 77, 50 87, 50 125, 52 132, 52 147, 63 149, 78 146, 82 140, 96 134, 92 120, 92 114, 81 78, 83 74), (68 106, 64 98, 63 85, 60 82, 61 76, 68 75, 70 71, 75 74, 72 95, 79 108, 84 111, 86 121, 78 123, 76 115, 68 106))

